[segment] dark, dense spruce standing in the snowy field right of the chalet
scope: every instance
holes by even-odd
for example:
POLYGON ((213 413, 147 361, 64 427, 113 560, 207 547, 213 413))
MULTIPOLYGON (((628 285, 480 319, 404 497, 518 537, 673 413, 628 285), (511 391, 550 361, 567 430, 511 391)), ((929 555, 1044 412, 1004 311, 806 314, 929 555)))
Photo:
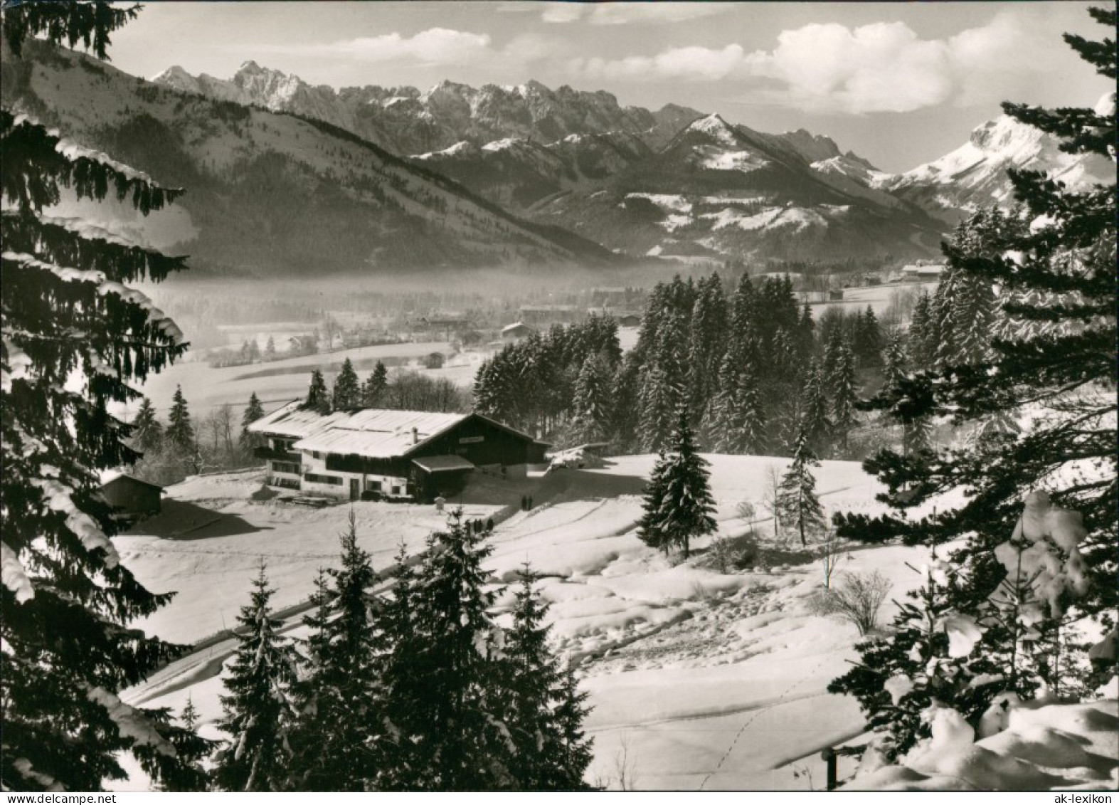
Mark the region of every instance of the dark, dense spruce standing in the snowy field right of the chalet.
POLYGON ((657 459, 646 486, 645 514, 638 536, 665 553, 680 547, 684 558, 690 552, 692 537, 715 531, 715 500, 711 495, 707 461, 695 450, 695 437, 686 406, 677 414, 669 453, 657 459))

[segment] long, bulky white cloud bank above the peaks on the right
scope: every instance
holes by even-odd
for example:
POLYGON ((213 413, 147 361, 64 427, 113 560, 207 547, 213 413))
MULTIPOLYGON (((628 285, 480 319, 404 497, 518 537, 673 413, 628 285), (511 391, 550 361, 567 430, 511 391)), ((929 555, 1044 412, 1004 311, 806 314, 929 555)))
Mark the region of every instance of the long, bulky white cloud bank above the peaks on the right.
POLYGON ((1053 56, 1052 39, 1006 15, 942 39, 922 39, 904 22, 811 24, 781 31, 771 50, 674 47, 655 56, 577 58, 567 67, 592 79, 726 81, 749 102, 810 112, 912 112, 1023 94, 1063 58, 1053 56))

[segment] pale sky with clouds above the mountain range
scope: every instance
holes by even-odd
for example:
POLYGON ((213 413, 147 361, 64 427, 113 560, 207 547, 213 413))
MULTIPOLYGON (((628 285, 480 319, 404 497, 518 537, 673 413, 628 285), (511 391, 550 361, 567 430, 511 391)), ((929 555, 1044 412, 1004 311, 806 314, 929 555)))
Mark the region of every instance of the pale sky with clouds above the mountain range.
POLYGON ((900 171, 962 144, 1000 101, 1094 105, 1113 90, 1061 39, 1107 34, 1090 4, 149 2, 110 55, 144 77, 178 65, 229 78, 252 59, 336 88, 605 90, 808 129, 900 171))

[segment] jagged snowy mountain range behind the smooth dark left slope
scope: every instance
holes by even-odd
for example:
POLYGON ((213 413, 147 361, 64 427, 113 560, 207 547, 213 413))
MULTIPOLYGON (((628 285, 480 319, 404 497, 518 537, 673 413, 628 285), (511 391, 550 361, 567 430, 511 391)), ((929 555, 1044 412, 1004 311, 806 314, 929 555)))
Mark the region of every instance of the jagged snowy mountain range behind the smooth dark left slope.
POLYGON ((1110 171, 1006 116, 938 160, 887 174, 803 129, 767 134, 684 106, 623 107, 605 92, 538 82, 336 91, 253 62, 229 81, 178 67, 153 81, 329 121, 518 215, 630 254, 931 255, 947 225, 1010 199, 1007 168, 1073 182, 1110 171))

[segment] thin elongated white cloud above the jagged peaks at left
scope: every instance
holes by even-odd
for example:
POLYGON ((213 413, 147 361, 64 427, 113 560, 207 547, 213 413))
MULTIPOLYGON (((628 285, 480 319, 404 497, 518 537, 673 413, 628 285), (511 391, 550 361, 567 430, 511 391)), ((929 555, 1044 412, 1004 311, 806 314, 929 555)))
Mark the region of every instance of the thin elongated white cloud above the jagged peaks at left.
POLYGON ((488 34, 430 28, 412 37, 384 34, 322 45, 276 45, 258 47, 262 53, 282 53, 360 62, 407 59, 423 65, 464 64, 491 54, 488 34))

